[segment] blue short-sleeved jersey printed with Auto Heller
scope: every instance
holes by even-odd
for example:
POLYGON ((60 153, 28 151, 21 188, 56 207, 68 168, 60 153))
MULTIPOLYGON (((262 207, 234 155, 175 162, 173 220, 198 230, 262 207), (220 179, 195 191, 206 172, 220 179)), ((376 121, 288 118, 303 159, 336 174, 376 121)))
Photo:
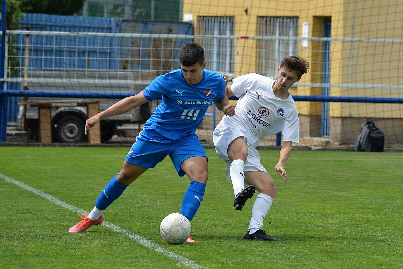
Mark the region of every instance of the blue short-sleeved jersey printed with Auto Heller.
POLYGON ((151 101, 162 99, 147 120, 144 129, 154 129, 164 137, 178 140, 195 132, 209 105, 225 94, 225 81, 220 74, 203 69, 203 78, 189 85, 181 69, 157 77, 143 90, 151 101))

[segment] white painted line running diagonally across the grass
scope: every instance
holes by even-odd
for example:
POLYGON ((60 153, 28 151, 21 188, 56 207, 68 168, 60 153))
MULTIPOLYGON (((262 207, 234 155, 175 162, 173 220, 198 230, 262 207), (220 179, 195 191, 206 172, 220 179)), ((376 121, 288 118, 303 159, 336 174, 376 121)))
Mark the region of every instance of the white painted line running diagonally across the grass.
MULTIPOLYGON (((25 183, 22 183, 22 182, 20 182, 18 180, 12 179, 12 178, 10 178, 10 177, 2 174, 2 173, 0 173, 0 178, 3 178, 4 180, 6 180, 6 181, 8 181, 10 183, 13 183, 14 185, 17 185, 18 187, 20 187, 22 189, 25 189, 25 190, 27 190, 29 192, 33 192, 36 195, 41 196, 41 197, 45 198, 46 200, 51 201, 52 203, 60 205, 61 207, 70 209, 70 210, 72 210, 73 212, 76 212, 76 213, 84 214, 83 209, 80 209, 80 208, 77 208, 77 207, 75 207, 75 206, 73 206, 71 204, 65 203, 65 202, 57 199, 56 197, 54 197, 54 196, 52 196, 50 194, 44 193, 43 191, 40 191, 40 190, 37 190, 37 189, 35 189, 35 188, 25 184, 25 183)), ((168 258, 171 258, 173 260, 179 261, 180 263, 182 263, 182 264, 184 264, 186 266, 190 266, 191 268, 200 268, 200 269, 204 268, 203 266, 198 265, 195 261, 193 261, 191 259, 188 259, 185 256, 182 256, 180 254, 177 254, 177 253, 174 253, 172 251, 169 251, 169 250, 163 248, 162 246, 160 246, 158 244, 155 244, 155 243, 151 242, 150 240, 147 240, 145 237, 143 237, 141 235, 129 232, 126 229, 124 229, 122 227, 119 227, 117 225, 114 225, 114 224, 112 224, 110 222, 107 222, 107 221, 103 221, 102 225, 106 226, 106 227, 108 227, 108 228, 110 228, 110 229, 112 229, 112 230, 114 230, 114 231, 116 231, 118 233, 121 233, 121 234, 129 237, 130 239, 138 242, 139 244, 141 244, 143 246, 146 246, 146 247, 148 247, 148 248, 150 248, 150 249, 152 249, 152 250, 154 250, 154 251, 156 251, 158 253, 164 254, 168 258)))

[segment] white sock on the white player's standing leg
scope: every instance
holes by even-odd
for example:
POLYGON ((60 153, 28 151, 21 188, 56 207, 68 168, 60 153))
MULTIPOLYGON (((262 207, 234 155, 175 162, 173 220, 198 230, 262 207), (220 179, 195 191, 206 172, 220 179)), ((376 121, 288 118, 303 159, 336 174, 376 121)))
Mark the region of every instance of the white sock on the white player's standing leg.
POLYGON ((263 227, 264 219, 267 216, 268 210, 272 205, 273 198, 264 193, 259 193, 252 208, 252 218, 248 230, 249 234, 253 234, 263 227))

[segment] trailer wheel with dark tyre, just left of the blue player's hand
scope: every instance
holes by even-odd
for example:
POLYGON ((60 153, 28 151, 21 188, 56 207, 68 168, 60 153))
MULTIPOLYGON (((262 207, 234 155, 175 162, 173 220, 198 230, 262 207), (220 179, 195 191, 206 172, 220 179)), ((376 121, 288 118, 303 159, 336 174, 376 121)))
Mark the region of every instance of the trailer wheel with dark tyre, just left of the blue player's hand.
POLYGON ((60 142, 85 141, 85 122, 78 116, 65 115, 57 121, 56 140, 60 142))

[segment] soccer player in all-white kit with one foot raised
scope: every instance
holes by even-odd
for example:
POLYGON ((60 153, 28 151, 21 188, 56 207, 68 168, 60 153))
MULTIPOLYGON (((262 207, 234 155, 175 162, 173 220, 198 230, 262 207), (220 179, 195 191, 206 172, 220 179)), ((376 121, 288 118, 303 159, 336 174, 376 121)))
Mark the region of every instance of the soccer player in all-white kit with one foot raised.
POLYGON ((288 89, 304 73, 309 63, 299 56, 288 56, 278 67, 276 80, 250 73, 227 85, 228 97, 239 98, 235 115, 224 116, 213 132, 219 158, 227 164, 228 180, 234 188, 234 208, 241 210, 257 189, 260 193, 252 208, 252 218, 245 239, 281 241, 267 235, 263 222, 276 194, 270 174, 260 163, 256 150, 260 137, 282 132, 283 145, 275 169, 287 180, 285 164, 292 142, 298 143, 298 112, 288 89))

